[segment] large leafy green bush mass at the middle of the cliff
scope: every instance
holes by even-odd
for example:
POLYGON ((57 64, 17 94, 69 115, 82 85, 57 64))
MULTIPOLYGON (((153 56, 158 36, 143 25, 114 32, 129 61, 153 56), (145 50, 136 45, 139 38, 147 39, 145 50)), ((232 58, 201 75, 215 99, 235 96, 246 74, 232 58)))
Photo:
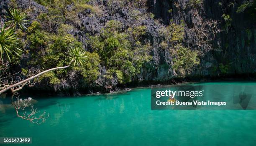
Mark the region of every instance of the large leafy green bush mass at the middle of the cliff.
POLYGON ((146 33, 146 26, 129 28, 125 32, 121 32, 121 26, 118 21, 109 21, 100 35, 89 37, 88 43, 100 55, 101 64, 108 70, 107 76, 111 78, 114 74, 119 83, 127 83, 151 59, 151 46, 139 41, 146 33))

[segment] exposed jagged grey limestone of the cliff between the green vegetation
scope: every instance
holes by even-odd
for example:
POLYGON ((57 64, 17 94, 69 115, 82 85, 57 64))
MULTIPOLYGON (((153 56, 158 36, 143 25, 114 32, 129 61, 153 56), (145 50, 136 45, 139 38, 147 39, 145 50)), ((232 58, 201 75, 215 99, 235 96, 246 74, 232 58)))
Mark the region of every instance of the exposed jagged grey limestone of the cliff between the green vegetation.
MULTIPOLYGON (((135 8, 140 12, 152 12, 155 15, 155 19, 161 19, 161 25, 169 25, 170 19, 173 19, 174 23, 179 24, 181 20, 185 23, 185 36, 184 45, 190 49, 195 49, 194 38, 197 37, 191 31, 190 28, 193 27, 193 23, 196 23, 193 19, 194 12, 192 8, 186 7, 189 0, 148 0, 148 9, 146 8, 135 8), (177 7, 179 5, 179 7, 177 7), (168 10, 172 9, 172 13, 168 10)), ((200 65, 198 65, 192 72, 191 76, 218 76, 217 72, 212 71, 214 66, 218 66, 220 63, 229 65, 229 73, 232 74, 242 74, 242 73, 255 73, 256 72, 256 23, 250 19, 249 16, 244 13, 236 13, 236 8, 241 5, 244 0, 240 0, 233 7, 228 7, 229 1, 224 0, 223 5, 226 7, 225 13, 228 13, 232 20, 231 28, 229 33, 226 34, 225 31, 218 33, 212 41, 212 48, 200 59, 200 65), (246 30, 251 31, 251 36, 246 34, 246 30), (248 42, 250 40, 250 43, 248 42)), ((88 37, 85 35, 89 33, 94 35, 99 33, 103 26, 109 20, 118 20, 123 24, 123 29, 127 29, 132 25, 146 25, 146 37, 143 38, 145 42, 151 44, 152 48, 152 61, 146 63, 143 68, 141 68, 141 74, 138 78, 133 80, 138 81, 168 81, 177 76, 174 69, 172 68, 172 55, 168 49, 162 49, 160 46, 161 37, 158 34, 158 29, 160 25, 156 25, 152 18, 146 18, 140 22, 135 22, 131 19, 129 15, 129 10, 125 7, 121 8, 118 3, 113 3, 114 7, 112 10, 107 8, 107 0, 94 0, 90 2, 92 5, 100 5, 102 7, 102 15, 88 16, 91 13, 90 10, 79 13, 79 18, 81 23, 75 25, 75 29, 71 30, 69 33, 74 35, 81 41, 85 48, 90 50, 87 45, 86 40, 88 37)), ((224 27, 225 22, 221 17, 223 11, 218 5, 220 0, 204 0, 201 15, 203 14, 206 19, 220 20, 221 25, 224 27)), ((8 1, 0 2, 0 13, 1 15, 3 8, 6 7, 8 1)), ((39 12, 47 13, 47 9, 34 2, 33 0, 17 0, 19 8, 25 9, 32 7, 34 10, 33 15, 29 16, 30 20, 37 17, 39 12)), ((71 10, 74 5, 69 5, 67 10, 71 10)), ((3 24, 5 20, 0 18, 0 23, 3 24)), ((74 25, 71 22, 66 22, 69 25, 74 25)), ((223 28, 222 28, 223 29, 223 28)), ((23 64, 21 66, 26 66, 23 64)), ((62 93, 68 94, 77 93, 77 91, 84 91, 82 93, 94 93, 97 91, 111 91, 117 90, 118 80, 114 76, 113 79, 109 80, 102 76, 106 73, 105 66, 100 66, 99 72, 101 76, 97 79, 93 85, 85 85, 79 80, 74 80, 76 74, 69 73, 67 81, 63 81, 61 85, 54 87, 60 90, 62 93), (68 90, 68 91, 67 91, 68 90), (68 92, 68 93, 67 93, 68 92)), ((38 86, 35 90, 40 89, 52 90, 47 86, 38 86)))

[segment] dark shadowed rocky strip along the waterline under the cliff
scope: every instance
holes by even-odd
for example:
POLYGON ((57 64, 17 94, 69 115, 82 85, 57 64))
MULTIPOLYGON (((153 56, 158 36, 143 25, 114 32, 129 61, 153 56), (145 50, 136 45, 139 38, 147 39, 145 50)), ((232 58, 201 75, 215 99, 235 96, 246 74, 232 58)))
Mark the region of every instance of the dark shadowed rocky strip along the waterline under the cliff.
POLYGON ((84 88, 79 90, 68 89, 65 91, 55 91, 53 88, 51 90, 36 90, 35 88, 26 87, 21 92, 20 95, 44 95, 44 96, 81 96, 81 95, 94 95, 94 94, 104 94, 104 93, 118 93, 123 91, 130 91, 131 88, 154 88, 154 87, 163 87, 169 85, 177 84, 186 84, 186 83, 204 83, 204 82, 229 82, 229 81, 256 81, 256 76, 251 74, 245 75, 236 75, 236 76, 222 76, 222 77, 208 77, 208 78, 179 78, 172 79, 166 82, 159 81, 145 81, 145 82, 136 82, 130 83, 127 85, 117 86, 116 88, 111 88, 113 90, 105 90, 104 88, 84 88))

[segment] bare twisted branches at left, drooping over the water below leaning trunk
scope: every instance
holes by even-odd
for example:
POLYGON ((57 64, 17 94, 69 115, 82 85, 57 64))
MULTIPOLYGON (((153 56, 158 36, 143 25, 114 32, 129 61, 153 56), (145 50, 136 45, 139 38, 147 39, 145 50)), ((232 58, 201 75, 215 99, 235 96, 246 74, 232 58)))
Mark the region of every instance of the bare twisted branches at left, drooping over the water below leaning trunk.
MULTIPOLYGON (((0 62, 0 90, 3 91, 6 88, 12 87, 10 88, 12 94, 11 97, 11 101, 12 101, 12 105, 16 111, 16 115, 24 120, 28 120, 31 123, 36 123, 36 124, 41 124, 44 123, 44 121, 46 120, 46 118, 49 117, 49 113, 48 115, 46 115, 46 112, 44 111, 43 113, 40 114, 40 111, 38 111, 37 109, 34 109, 34 105, 31 103, 31 99, 25 99, 22 100, 19 98, 18 96, 18 91, 20 91, 24 86, 28 85, 28 86, 34 86, 34 84, 36 83, 35 80, 28 80, 25 81, 23 83, 21 81, 20 77, 15 77, 15 75, 17 75, 18 73, 15 74, 11 74, 8 71, 8 63, 3 63, 0 62), (20 83, 20 84, 18 84, 20 83), (13 86, 13 85, 17 85, 17 86, 13 86), (13 97, 17 96, 17 100, 14 101, 13 97), (23 111, 22 114, 20 114, 20 111, 23 111), (30 112, 27 112, 30 111, 30 112)), ((28 70, 28 73, 24 74, 24 76, 26 76, 27 78, 31 78, 34 77, 36 75, 40 74, 40 70, 36 69, 36 70, 28 70)), ((36 78, 36 77, 34 77, 36 78)), ((3 95, 0 94, 1 96, 3 95)))

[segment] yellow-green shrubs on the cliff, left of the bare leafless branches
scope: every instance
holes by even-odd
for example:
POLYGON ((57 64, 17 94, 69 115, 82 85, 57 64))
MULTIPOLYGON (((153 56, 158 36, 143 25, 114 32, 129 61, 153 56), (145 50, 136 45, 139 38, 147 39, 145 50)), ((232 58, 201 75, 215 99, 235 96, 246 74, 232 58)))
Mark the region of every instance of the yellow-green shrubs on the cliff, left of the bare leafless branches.
POLYGON ((184 47, 182 42, 184 40, 184 21, 180 25, 171 23, 166 28, 159 29, 159 35, 164 39, 160 43, 162 49, 169 48, 173 57, 173 68, 179 76, 189 74, 195 65, 200 63, 197 56, 197 51, 189 50, 184 47), (168 45, 169 42, 171 45, 168 45))

